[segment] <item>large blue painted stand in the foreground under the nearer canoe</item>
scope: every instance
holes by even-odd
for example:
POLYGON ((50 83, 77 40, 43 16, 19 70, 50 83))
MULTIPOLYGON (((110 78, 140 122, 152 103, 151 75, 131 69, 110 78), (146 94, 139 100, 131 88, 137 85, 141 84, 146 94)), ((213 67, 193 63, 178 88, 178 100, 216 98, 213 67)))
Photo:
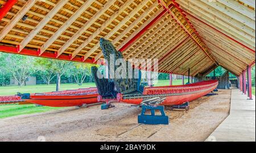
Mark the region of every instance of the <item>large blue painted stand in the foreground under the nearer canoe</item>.
POLYGON ((138 123, 145 125, 168 125, 169 117, 164 113, 164 106, 142 106, 141 115, 138 115, 138 123), (151 115, 146 115, 146 110, 151 110, 151 115), (161 115, 155 115, 155 110, 160 110, 161 115))

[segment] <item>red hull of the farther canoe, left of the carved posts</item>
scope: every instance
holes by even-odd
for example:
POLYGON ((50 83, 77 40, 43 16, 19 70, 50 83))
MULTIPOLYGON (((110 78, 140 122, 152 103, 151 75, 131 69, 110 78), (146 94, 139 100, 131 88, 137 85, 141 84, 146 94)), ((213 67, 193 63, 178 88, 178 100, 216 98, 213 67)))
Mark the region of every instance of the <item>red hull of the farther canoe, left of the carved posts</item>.
POLYGON ((82 106, 97 103, 97 88, 65 90, 61 92, 35 93, 26 100, 33 104, 51 107, 82 106))

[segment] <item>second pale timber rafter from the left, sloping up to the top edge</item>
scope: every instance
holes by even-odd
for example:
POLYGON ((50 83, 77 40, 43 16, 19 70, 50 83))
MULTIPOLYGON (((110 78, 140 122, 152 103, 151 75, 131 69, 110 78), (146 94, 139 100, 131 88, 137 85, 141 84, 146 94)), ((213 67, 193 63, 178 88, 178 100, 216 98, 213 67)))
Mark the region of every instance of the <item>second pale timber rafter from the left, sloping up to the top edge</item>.
MULTIPOLYGON (((29 1, 28 1, 29 2, 29 1)), ((40 32, 42 30, 42 28, 44 26, 46 26, 46 24, 49 22, 49 20, 51 20, 53 18, 53 16, 65 5, 65 3, 67 3, 68 0, 63 0, 63 1, 59 1, 59 3, 57 3, 57 5, 55 5, 55 7, 53 7, 53 9, 51 11, 49 11, 49 13, 46 15, 45 18, 43 18, 41 20, 41 22, 34 28, 34 30, 32 30, 30 32, 30 34, 28 34, 26 36, 26 38, 24 38, 22 40, 22 42, 20 43, 19 47, 20 47, 20 51, 27 46, 27 44, 38 34, 38 32, 40 32)), ((31 2, 30 2, 31 3, 31 2)), ((23 11, 23 9, 21 10, 23 11)))

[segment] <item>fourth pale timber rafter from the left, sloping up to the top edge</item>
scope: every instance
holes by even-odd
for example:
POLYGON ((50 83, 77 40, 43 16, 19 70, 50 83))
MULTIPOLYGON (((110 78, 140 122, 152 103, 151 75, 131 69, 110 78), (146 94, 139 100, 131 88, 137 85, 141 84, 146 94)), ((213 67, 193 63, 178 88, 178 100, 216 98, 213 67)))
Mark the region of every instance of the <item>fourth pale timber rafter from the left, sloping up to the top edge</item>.
POLYGON ((79 37, 85 32, 85 30, 87 30, 94 22, 96 22, 96 20, 97 20, 98 18, 100 18, 100 16, 101 16, 102 14, 104 14, 105 11, 108 10, 109 7, 112 6, 114 2, 115 2, 115 0, 110 0, 110 1, 106 2, 106 4, 104 5, 104 7, 102 7, 102 9, 101 9, 100 11, 98 11, 96 14, 94 14, 94 15, 92 16, 92 18, 91 18, 88 22, 86 22, 86 23, 84 24, 84 26, 82 26, 82 27, 80 28, 80 30, 77 31, 76 34, 73 35, 73 36, 71 37, 71 39, 69 39, 69 40, 58 50, 57 56, 60 56, 61 53, 63 53, 63 52, 65 51, 65 49, 67 49, 69 46, 71 46, 71 44, 72 44, 73 42, 75 42, 75 40, 76 40, 77 38, 79 38, 79 37))

